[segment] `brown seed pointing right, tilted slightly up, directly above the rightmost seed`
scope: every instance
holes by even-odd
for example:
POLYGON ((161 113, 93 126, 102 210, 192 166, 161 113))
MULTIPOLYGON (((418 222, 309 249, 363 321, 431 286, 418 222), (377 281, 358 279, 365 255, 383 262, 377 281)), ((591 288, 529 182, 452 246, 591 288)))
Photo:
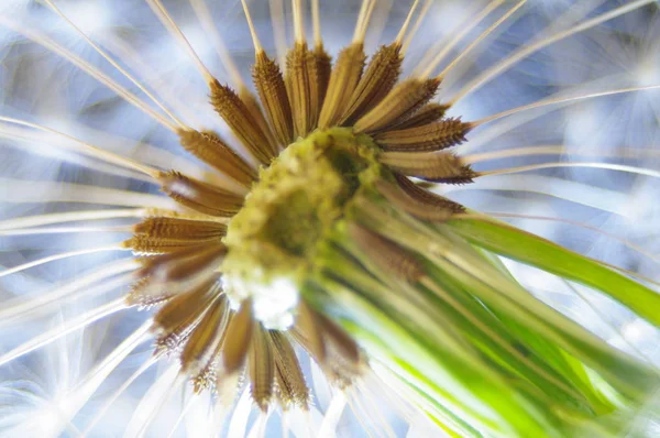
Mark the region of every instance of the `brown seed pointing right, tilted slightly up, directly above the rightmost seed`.
POLYGON ((470 124, 460 119, 446 119, 421 127, 385 131, 374 135, 374 140, 384 151, 433 152, 461 144, 469 130, 470 124))

